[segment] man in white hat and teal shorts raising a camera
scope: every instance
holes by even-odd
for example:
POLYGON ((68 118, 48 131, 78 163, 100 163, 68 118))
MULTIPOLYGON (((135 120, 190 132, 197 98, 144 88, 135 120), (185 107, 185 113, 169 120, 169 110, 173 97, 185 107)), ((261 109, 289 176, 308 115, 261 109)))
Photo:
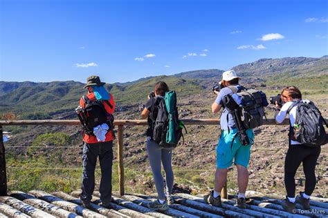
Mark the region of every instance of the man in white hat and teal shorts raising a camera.
MULTIPOLYGON (((212 103, 212 112, 217 113, 224 106, 224 97, 235 93, 237 90, 242 90, 239 85, 241 77, 237 77, 234 70, 228 70, 223 73, 220 83, 221 90, 214 90, 217 94, 217 99, 212 103)), ((215 88, 214 88, 215 89, 215 88)), ((221 189, 226 184, 228 168, 233 164, 238 171, 238 199, 235 206, 246 208, 246 188, 248 186, 248 161, 250 158, 250 144, 243 146, 237 135, 237 126, 233 120, 233 116, 224 108, 221 119, 221 137, 217 145, 217 169, 215 172, 215 188, 208 195, 204 196, 204 200, 213 206, 221 206, 221 189)), ((246 130, 246 135, 250 141, 254 140, 254 132, 252 129, 246 130)))

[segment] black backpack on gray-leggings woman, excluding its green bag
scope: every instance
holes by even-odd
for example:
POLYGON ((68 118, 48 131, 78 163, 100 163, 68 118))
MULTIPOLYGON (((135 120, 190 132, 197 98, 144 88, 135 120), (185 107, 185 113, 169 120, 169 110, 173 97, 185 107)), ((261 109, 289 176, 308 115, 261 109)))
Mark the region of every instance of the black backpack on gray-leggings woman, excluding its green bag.
MULTIPOLYGON (((149 136, 158 143, 159 146, 163 148, 175 148, 181 139, 183 138, 182 128, 185 128, 183 123, 179 121, 178 108, 174 105, 174 115, 172 120, 174 121, 174 135, 176 137, 176 143, 167 143, 167 131, 169 130, 169 115, 165 106, 165 100, 161 97, 154 97, 152 106, 152 121, 151 126, 149 126, 149 136)), ((187 132, 187 130, 185 130, 187 132)), ((184 141, 184 139, 183 139, 184 141)))

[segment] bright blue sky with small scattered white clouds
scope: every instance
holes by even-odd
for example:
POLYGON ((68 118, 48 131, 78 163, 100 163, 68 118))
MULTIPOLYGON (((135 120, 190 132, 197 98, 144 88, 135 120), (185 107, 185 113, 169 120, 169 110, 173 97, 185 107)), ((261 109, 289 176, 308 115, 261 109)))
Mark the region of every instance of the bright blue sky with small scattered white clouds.
POLYGON ((0 1, 0 81, 134 81, 328 54, 328 1, 0 1))

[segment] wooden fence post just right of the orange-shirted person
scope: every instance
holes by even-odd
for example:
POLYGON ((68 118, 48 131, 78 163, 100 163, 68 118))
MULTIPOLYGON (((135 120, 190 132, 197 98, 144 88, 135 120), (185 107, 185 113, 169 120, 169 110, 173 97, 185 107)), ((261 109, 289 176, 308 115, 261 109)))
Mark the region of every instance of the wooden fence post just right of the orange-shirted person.
POLYGON ((122 125, 118 126, 118 183, 120 184, 120 196, 125 195, 122 125))

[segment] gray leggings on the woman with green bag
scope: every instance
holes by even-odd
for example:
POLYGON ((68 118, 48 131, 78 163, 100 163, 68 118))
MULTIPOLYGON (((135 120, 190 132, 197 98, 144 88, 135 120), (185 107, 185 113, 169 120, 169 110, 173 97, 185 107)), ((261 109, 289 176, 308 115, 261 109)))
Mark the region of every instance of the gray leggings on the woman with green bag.
POLYGON ((155 141, 147 139, 147 152, 150 166, 154 175, 158 199, 165 199, 164 179, 161 172, 161 163, 165 171, 166 194, 170 195, 173 188, 172 149, 158 146, 155 141))

